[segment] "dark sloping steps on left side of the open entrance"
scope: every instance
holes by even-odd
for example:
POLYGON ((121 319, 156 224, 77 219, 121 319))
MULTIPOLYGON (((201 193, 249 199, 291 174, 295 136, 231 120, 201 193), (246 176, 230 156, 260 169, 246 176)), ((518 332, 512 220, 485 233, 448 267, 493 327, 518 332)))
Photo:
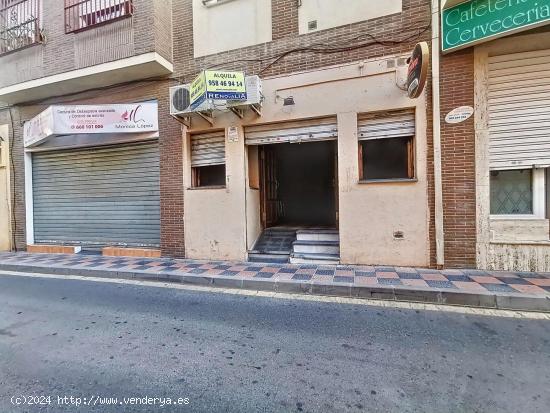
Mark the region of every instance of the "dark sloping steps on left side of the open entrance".
POLYGON ((268 228, 262 232, 252 251, 248 252, 248 261, 287 263, 295 240, 296 231, 293 229, 268 228))

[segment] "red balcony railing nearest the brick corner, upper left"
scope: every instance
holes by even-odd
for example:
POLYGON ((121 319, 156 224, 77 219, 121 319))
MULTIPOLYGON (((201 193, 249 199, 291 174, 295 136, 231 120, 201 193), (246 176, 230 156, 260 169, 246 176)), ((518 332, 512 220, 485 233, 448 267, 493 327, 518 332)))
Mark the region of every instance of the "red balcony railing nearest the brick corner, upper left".
POLYGON ((130 17, 133 0, 65 0, 65 33, 130 17))

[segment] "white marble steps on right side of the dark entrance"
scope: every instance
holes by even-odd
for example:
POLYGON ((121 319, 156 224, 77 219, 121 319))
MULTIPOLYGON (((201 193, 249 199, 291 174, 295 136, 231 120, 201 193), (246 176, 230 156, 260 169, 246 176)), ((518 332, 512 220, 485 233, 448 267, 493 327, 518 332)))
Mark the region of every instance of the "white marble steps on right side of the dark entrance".
POLYGON ((335 229, 296 231, 290 262, 293 264, 339 264, 340 237, 335 229))

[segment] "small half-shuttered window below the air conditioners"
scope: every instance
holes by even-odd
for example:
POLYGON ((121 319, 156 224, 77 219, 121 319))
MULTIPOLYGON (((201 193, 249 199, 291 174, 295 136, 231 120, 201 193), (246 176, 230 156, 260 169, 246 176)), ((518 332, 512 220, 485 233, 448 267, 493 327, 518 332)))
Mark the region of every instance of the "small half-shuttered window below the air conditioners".
POLYGON ((225 131, 191 135, 193 188, 225 186, 225 131))

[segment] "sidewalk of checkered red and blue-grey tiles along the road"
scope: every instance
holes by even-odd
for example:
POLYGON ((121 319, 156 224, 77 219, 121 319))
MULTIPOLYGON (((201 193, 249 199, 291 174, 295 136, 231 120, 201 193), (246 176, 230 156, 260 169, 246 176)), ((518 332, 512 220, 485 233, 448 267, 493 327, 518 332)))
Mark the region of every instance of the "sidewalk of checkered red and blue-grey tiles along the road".
POLYGON ((550 274, 0 253, 0 270, 550 311, 550 274), (536 301, 518 307, 518 303, 536 301), (515 304, 514 304, 515 303, 515 304))

